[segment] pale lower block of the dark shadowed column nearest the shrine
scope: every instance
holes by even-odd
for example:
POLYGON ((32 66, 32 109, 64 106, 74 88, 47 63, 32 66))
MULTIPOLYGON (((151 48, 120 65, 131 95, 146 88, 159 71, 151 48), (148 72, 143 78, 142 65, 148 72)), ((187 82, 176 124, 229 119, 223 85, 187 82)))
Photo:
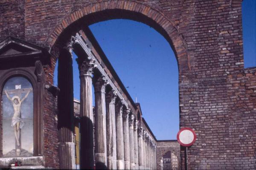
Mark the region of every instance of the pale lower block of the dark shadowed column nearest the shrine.
POLYGON ((76 169, 74 142, 58 143, 58 155, 60 169, 76 169))

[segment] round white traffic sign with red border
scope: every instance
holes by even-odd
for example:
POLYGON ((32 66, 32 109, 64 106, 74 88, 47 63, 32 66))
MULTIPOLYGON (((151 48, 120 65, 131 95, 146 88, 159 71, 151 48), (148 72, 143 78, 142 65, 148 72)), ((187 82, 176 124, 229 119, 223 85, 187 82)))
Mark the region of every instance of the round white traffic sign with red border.
POLYGON ((177 133, 177 140, 182 146, 191 146, 195 139, 195 131, 189 127, 184 127, 177 133))

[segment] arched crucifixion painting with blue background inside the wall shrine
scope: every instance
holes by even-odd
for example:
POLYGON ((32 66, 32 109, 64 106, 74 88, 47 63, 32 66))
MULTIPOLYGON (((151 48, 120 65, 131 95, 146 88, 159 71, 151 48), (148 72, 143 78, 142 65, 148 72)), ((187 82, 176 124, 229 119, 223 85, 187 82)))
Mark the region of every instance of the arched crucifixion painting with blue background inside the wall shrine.
POLYGON ((33 156, 33 88, 24 77, 9 79, 2 93, 3 157, 33 156))

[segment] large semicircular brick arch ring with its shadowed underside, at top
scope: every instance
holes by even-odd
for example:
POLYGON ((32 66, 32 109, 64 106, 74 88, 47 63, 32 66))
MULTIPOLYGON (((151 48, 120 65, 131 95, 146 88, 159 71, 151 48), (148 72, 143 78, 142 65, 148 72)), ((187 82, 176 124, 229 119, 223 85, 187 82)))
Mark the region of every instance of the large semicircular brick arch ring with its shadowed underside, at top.
POLYGON ((161 11, 131 0, 110 0, 84 4, 79 10, 68 14, 56 24, 44 46, 48 47, 52 53, 54 47, 70 40, 71 35, 81 30, 85 24, 90 25, 110 19, 136 20, 156 29, 171 45, 178 62, 179 71, 181 71, 181 65, 182 71, 190 70, 186 42, 175 25, 161 11))

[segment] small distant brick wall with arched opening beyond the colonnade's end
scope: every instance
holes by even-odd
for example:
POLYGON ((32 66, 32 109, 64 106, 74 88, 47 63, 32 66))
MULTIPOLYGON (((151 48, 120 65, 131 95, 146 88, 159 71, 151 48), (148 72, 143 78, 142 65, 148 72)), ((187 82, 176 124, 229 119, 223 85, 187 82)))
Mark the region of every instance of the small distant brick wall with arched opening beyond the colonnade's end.
POLYGON ((167 153, 171 152, 174 153, 175 156, 177 156, 177 159, 179 161, 179 169, 181 168, 180 164, 180 150, 178 148, 157 148, 157 170, 160 170, 160 161, 162 157, 167 153))

